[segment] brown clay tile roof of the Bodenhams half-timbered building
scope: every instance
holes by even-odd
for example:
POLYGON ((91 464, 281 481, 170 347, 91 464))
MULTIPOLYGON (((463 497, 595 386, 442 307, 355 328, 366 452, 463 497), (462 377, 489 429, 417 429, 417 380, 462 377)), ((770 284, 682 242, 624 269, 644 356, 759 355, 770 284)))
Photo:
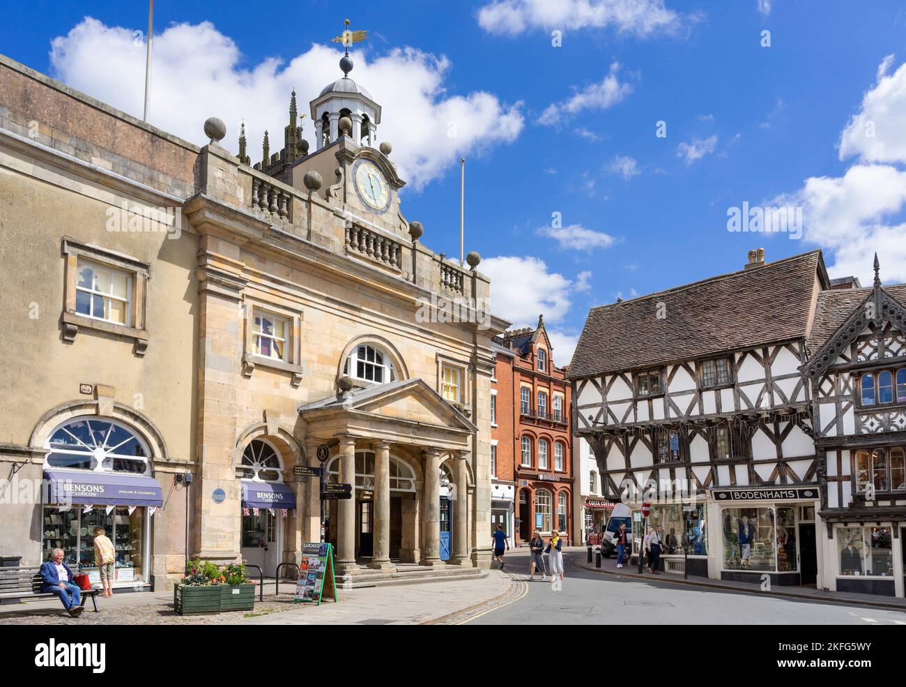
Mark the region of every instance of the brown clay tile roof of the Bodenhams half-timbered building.
POLYGON ((804 339, 816 273, 826 286, 820 250, 593 308, 568 376, 578 379, 804 339), (666 308, 661 319, 660 304, 666 308))

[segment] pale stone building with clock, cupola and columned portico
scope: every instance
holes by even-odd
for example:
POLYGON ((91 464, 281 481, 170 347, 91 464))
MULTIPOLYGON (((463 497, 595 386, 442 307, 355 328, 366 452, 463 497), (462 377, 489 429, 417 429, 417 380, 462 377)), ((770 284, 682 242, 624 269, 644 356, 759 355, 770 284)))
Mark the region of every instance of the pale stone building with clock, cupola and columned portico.
POLYGON ((244 131, 237 157, 212 118, 199 149, 0 56, 0 556, 87 565, 101 525, 142 588, 187 555, 273 575, 322 534, 347 580, 489 565, 506 323, 477 253, 459 267, 402 215, 344 59, 314 145, 293 94, 252 166, 244 131), (296 469, 322 464, 354 493, 324 518, 296 469))

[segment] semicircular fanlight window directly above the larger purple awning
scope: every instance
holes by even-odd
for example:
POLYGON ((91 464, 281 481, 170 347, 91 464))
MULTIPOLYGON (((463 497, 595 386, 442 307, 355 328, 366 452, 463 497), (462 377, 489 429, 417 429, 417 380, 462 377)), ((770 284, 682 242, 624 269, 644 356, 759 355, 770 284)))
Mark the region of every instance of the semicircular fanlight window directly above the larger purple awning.
POLYGON ((63 422, 44 445, 53 468, 151 474, 145 442, 119 421, 83 417, 63 422))

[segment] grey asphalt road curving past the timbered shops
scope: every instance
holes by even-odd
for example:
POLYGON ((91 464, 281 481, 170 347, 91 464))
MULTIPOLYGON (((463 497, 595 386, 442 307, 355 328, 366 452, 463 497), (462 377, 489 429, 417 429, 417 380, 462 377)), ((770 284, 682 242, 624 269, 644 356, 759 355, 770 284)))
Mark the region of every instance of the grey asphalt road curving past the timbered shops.
MULTIPOLYGON (((536 576, 525 595, 467 623, 906 625, 900 611, 601 575, 573 565, 575 556, 584 554, 564 556, 561 591, 536 576)), ((504 570, 527 579, 527 550, 508 552, 504 570)))

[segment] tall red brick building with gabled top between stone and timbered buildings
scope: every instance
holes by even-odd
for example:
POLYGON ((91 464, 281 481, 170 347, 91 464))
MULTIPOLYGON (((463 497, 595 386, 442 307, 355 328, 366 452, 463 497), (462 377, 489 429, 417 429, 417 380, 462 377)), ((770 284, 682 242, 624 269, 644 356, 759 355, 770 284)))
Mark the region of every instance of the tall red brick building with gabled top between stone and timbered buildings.
POLYGON ((535 529, 545 536, 558 529, 568 539, 573 530, 573 439, 566 371, 554 364, 543 317, 537 327, 506 332, 495 343, 492 525, 505 522, 515 541, 528 541, 535 529))

